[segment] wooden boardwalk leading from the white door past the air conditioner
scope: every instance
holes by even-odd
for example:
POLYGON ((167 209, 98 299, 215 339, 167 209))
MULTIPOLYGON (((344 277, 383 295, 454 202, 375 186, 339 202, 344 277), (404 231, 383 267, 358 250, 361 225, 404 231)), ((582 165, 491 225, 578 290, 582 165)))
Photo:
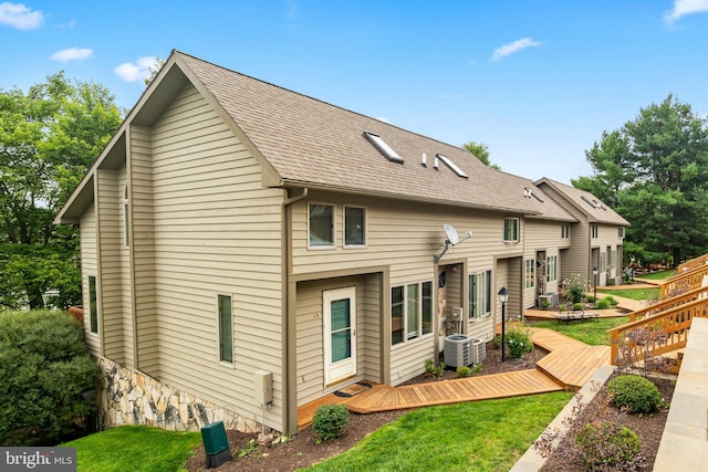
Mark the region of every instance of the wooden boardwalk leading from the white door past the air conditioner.
POLYGON ((403 387, 369 382, 373 386, 371 389, 354 397, 343 398, 331 394, 300 407, 298 424, 301 429, 309 426, 314 411, 327 403, 344 403, 351 411, 373 413, 576 390, 600 366, 610 361, 610 346, 587 346, 552 329, 531 328, 531 331, 533 343, 550 353, 537 364, 535 369, 403 387))

